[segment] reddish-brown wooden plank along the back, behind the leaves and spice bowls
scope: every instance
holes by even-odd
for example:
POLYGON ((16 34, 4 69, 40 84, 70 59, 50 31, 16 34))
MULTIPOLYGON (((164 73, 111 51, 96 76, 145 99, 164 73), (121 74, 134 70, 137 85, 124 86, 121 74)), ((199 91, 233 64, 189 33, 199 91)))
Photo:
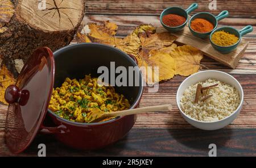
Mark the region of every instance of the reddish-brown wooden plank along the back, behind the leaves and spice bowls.
POLYGON ((232 18, 256 18, 256 1, 254 0, 228 0, 217 1, 217 9, 209 10, 209 1, 183 1, 183 0, 136 0, 136 1, 112 1, 112 0, 94 0, 86 1, 85 11, 86 14, 120 14, 120 15, 160 15, 160 13, 170 6, 180 6, 187 9, 189 5, 197 2, 199 8, 192 12, 208 11, 217 15, 222 10, 228 10, 232 18))

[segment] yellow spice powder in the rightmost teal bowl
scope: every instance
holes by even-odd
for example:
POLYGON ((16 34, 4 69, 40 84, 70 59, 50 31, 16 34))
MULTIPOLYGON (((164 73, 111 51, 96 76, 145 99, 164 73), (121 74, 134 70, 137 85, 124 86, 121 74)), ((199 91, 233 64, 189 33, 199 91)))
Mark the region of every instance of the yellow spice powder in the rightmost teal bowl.
POLYGON ((211 40, 216 45, 227 47, 236 44, 239 38, 229 32, 217 31, 213 33, 211 40))

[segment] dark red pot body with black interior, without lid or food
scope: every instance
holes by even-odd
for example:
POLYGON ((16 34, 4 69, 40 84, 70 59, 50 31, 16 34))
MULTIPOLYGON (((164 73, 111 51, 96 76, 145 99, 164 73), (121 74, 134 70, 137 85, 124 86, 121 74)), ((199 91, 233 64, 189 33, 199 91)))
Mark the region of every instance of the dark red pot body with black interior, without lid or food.
MULTIPOLYGON (((115 68, 125 66, 127 70, 129 66, 137 66, 135 61, 127 54, 102 44, 70 45, 61 48, 53 55, 55 57, 54 87, 60 86, 67 77, 81 79, 84 78, 85 74, 92 74, 92 77, 98 77, 100 74, 97 73, 97 69, 100 66, 106 66, 110 70, 110 62, 114 62, 115 68)), ((127 77, 127 81, 138 80, 139 86, 115 87, 118 93, 125 95, 130 100, 131 108, 137 107, 143 91, 142 74, 139 69, 136 70, 135 74, 137 76, 127 77)), ((103 123, 86 124, 65 120, 51 110, 48 110, 48 114, 53 122, 59 126, 58 130, 52 132, 55 137, 64 144, 77 149, 97 149, 112 144, 130 131, 137 117, 130 115, 103 123)), ((48 132, 46 129, 43 131, 48 132)))

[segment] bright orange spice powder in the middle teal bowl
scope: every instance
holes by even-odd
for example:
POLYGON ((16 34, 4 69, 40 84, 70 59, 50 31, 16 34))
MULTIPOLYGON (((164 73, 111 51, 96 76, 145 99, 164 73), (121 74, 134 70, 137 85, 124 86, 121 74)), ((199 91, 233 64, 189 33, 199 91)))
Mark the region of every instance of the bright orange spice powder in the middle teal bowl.
POLYGON ((190 23, 193 31, 206 33, 213 30, 213 24, 206 19, 196 18, 190 23))

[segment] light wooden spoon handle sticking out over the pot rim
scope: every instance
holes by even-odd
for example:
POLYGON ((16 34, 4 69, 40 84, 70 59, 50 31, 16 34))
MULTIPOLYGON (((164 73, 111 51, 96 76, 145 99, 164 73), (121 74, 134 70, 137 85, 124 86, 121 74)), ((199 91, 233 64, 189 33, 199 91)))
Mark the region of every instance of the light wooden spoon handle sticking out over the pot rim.
POLYGON ((156 112, 156 111, 171 111, 171 104, 164 104, 160 106, 151 106, 151 107, 142 107, 142 108, 134 108, 123 111, 115 111, 104 114, 105 117, 115 117, 115 116, 126 116, 132 114, 141 114, 143 112, 156 112))

